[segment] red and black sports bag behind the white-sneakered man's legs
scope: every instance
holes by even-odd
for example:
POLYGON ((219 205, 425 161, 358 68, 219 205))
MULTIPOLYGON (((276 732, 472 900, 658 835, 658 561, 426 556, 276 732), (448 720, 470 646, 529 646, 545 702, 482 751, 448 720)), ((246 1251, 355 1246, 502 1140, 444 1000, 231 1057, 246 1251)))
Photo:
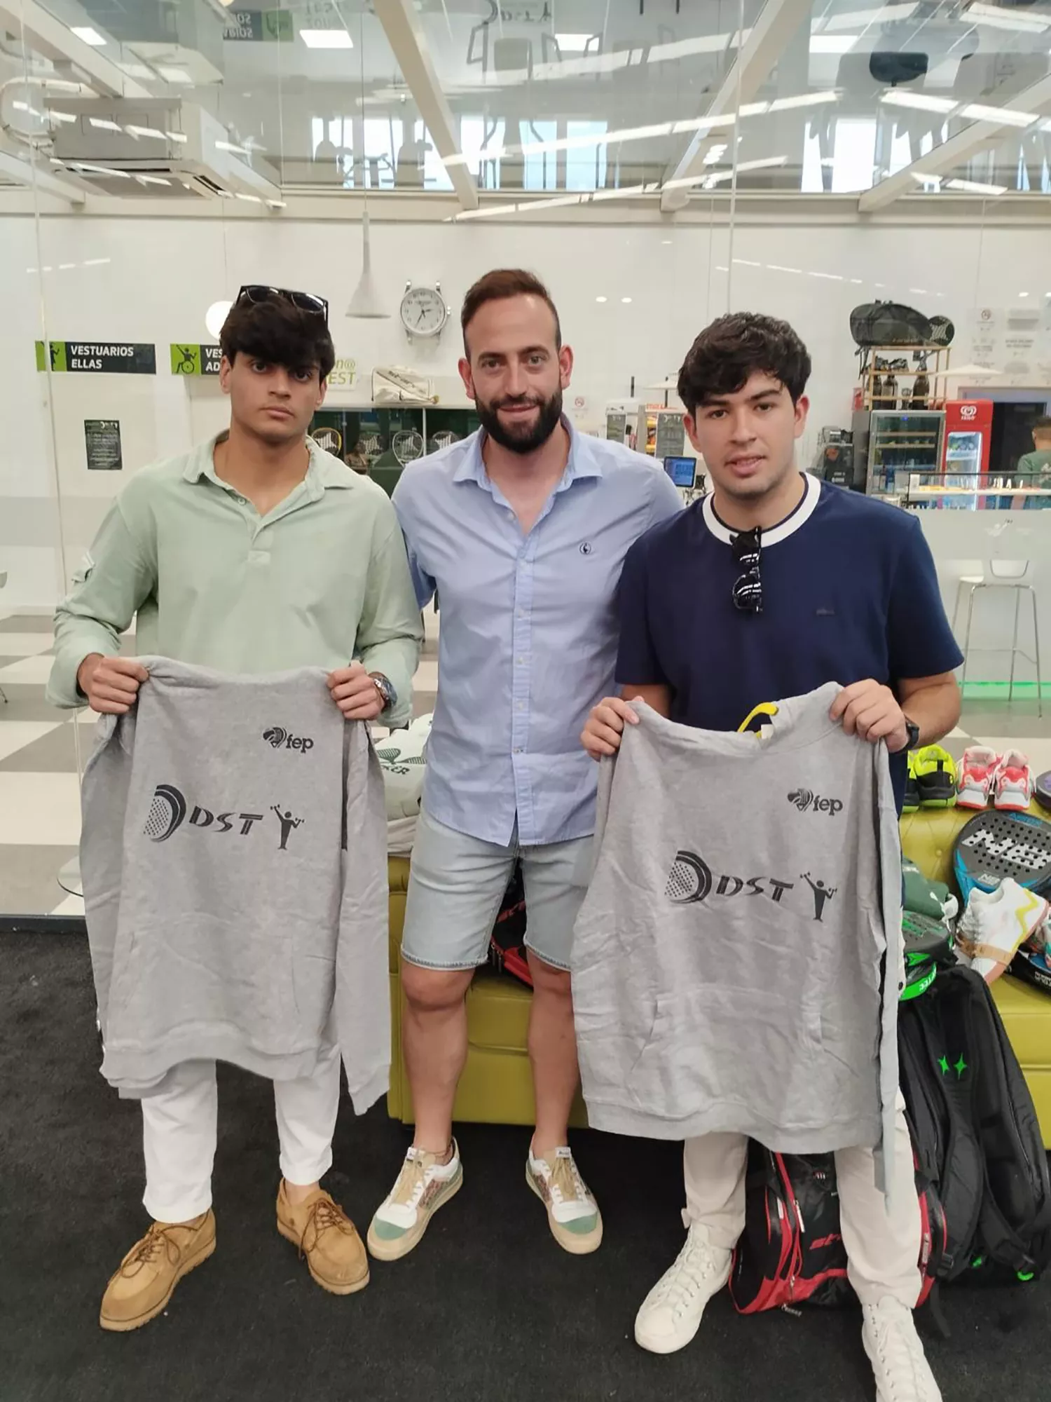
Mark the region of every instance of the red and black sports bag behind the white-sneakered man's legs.
MULTIPOLYGON (((918 1304, 930 1294, 944 1249, 944 1214, 916 1162, 922 1223, 918 1304)), ((774 1154, 748 1145, 744 1232, 733 1256, 730 1297, 739 1314, 835 1307, 853 1298, 839 1228, 832 1154, 774 1154)))

